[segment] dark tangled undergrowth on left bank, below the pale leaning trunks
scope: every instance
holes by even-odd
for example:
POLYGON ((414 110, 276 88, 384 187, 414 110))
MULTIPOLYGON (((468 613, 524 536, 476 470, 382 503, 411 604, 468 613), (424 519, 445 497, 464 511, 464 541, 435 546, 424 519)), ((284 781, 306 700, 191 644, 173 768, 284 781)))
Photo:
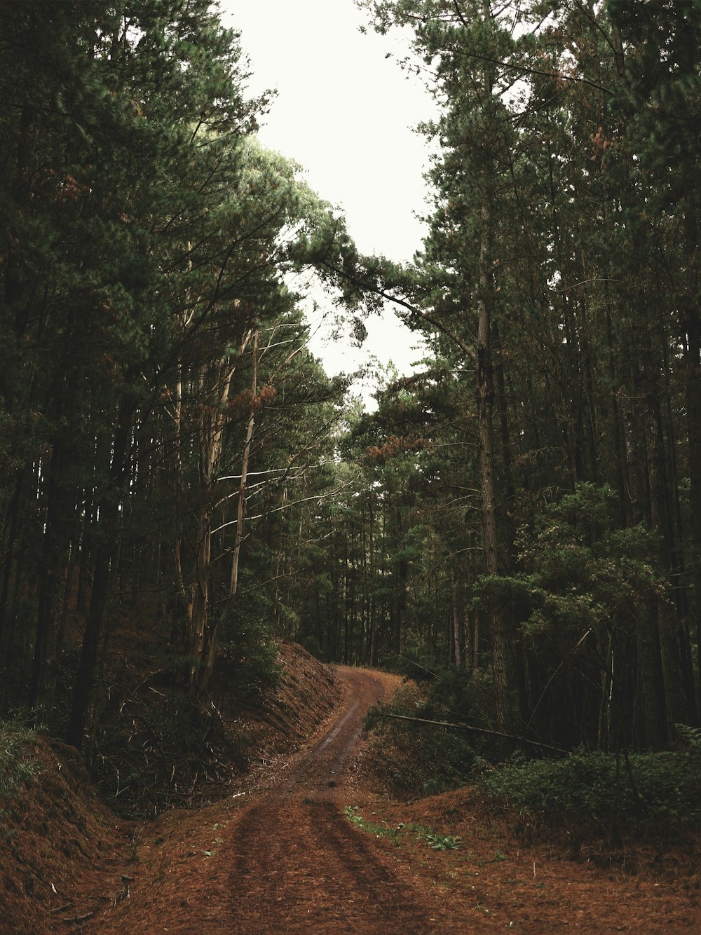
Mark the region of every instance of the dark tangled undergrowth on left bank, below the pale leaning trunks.
POLYGON ((127 817, 217 798, 247 769, 250 738, 240 713, 279 684, 279 644, 260 623, 230 626, 207 691, 188 692, 196 659, 154 639, 148 654, 111 661, 86 758, 101 795, 127 817))

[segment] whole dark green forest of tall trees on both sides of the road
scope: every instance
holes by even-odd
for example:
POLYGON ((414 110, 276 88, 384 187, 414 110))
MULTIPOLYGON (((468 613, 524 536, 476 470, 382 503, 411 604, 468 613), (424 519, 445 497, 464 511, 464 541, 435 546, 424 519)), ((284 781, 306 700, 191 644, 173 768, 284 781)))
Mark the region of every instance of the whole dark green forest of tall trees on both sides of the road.
POLYGON ((437 105, 404 266, 259 144, 209 0, 0 4, 0 713, 97 770, 280 639, 514 742, 699 726, 701 2, 360 6, 437 105), (307 278, 424 339, 376 409, 307 278))

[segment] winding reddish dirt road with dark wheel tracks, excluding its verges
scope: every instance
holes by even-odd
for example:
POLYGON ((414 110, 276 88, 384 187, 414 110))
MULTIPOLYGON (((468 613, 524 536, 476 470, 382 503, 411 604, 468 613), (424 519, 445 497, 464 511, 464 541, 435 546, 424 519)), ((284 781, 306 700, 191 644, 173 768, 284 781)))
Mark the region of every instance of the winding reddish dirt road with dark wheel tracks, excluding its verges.
POLYGON ((362 718, 382 694, 373 675, 344 671, 341 677, 350 706, 231 828, 226 909, 236 920, 232 931, 430 929, 406 881, 381 862, 371 839, 339 811, 362 718))

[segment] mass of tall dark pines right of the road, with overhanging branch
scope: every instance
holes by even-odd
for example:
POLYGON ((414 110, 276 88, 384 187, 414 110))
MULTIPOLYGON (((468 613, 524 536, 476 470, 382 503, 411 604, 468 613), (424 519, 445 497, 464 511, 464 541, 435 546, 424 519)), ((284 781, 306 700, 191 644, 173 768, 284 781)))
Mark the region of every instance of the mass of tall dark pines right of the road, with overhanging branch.
POLYGON ((346 439, 314 639, 464 666, 506 733, 665 745, 698 709, 701 5, 364 6, 436 97, 430 233, 320 259, 431 352, 346 439))

